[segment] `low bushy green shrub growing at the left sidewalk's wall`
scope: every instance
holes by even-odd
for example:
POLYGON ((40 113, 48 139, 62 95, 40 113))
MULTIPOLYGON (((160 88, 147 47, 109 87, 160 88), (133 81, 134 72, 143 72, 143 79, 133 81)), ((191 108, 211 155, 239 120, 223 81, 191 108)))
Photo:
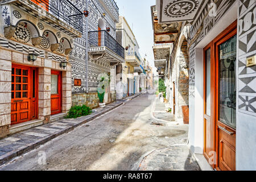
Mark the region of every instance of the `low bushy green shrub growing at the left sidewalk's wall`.
POLYGON ((68 111, 68 115, 65 118, 79 118, 83 115, 90 115, 92 113, 92 109, 86 105, 82 106, 72 106, 68 111))

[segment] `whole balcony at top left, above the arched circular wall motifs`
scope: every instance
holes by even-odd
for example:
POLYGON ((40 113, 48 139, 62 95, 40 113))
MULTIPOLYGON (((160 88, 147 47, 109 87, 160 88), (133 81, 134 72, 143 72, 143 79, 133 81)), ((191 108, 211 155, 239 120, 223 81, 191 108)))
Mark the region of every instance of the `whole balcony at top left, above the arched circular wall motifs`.
POLYGON ((69 0, 6 0, 1 5, 14 5, 31 16, 62 32, 79 38, 82 35, 83 14, 69 0))

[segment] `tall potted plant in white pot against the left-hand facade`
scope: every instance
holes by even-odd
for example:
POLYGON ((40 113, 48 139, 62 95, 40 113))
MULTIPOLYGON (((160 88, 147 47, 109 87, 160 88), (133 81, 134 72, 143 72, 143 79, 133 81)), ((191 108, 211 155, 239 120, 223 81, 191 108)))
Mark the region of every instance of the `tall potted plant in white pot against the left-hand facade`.
POLYGON ((104 96, 105 96, 105 86, 108 86, 109 84, 109 76, 106 73, 101 73, 100 75, 98 75, 98 81, 100 82, 97 88, 98 98, 100 100, 100 107, 103 108, 106 106, 104 102, 104 96))

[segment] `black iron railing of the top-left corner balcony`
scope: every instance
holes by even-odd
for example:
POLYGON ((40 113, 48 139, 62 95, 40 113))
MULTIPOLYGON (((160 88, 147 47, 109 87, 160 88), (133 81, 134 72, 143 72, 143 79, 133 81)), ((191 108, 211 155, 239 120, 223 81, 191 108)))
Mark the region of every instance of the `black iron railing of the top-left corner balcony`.
POLYGON ((82 32, 83 14, 68 0, 30 0, 69 26, 82 32))

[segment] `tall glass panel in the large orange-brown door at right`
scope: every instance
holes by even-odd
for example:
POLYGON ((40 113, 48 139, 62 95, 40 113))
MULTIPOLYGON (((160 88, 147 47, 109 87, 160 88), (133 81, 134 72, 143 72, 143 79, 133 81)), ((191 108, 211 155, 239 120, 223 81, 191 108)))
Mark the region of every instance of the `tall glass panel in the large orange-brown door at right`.
POLYGON ((218 121, 236 129, 237 35, 218 46, 218 121))

